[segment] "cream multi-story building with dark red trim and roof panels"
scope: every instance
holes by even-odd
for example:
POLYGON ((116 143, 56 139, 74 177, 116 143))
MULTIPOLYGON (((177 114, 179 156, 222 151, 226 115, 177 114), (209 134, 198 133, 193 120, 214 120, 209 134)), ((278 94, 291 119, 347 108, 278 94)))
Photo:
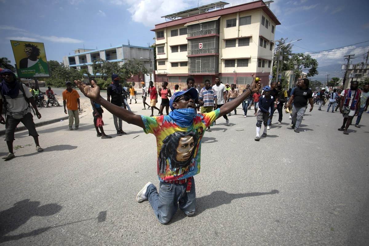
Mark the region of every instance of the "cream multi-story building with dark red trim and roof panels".
POLYGON ((268 84, 275 28, 280 25, 270 2, 228 8, 228 3, 217 2, 163 16, 170 21, 151 30, 156 33, 156 81, 186 83, 192 76, 203 83, 219 76, 224 84, 244 87, 254 73, 268 84))

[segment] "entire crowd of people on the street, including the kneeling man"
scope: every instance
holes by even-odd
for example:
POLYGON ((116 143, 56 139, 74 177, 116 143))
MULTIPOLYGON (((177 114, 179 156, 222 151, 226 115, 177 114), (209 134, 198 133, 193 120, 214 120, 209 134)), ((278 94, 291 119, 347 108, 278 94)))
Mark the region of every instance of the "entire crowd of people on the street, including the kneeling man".
MULTIPOLYGON (((1 116, 0 123, 6 125, 5 140, 9 150, 8 155, 2 158, 11 159, 14 157, 14 131, 20 122, 25 125, 30 136, 34 138, 36 150, 41 152, 43 149, 38 142, 30 104, 33 106, 37 118, 41 118, 41 114, 35 107, 32 93, 26 86, 17 82, 14 73, 10 70, 2 70, 1 77, 0 115, 4 104, 6 106, 6 119, 1 116)), ((123 121, 137 125, 144 129, 146 134, 155 135, 160 193, 154 184, 148 182, 138 192, 136 199, 137 202, 149 200, 156 217, 162 224, 170 221, 177 211, 178 204, 187 216, 194 214, 196 189, 193 176, 200 172, 201 140, 206 131, 211 132, 211 126, 216 124, 217 119, 223 117, 228 126, 230 125, 228 116, 231 116, 232 112, 237 115, 236 108, 239 105, 242 104, 244 117, 247 116, 248 110, 251 110, 251 105, 254 105, 255 141, 259 141, 260 137, 267 136, 275 111, 278 112, 278 124, 282 124, 283 111, 290 112, 291 128, 294 129, 294 132, 299 133, 301 121, 308 107, 307 103, 310 104, 310 111, 312 111, 316 96, 309 89, 308 79, 299 80, 297 86, 291 90, 283 89, 280 82, 272 82, 270 86, 265 86, 260 91, 260 80, 256 82, 253 75, 252 83, 246 85, 242 93, 236 84, 224 85, 219 77, 215 77, 214 83, 205 80, 203 88, 197 89, 194 86, 194 78, 189 77, 187 87, 179 90, 179 87, 175 86, 173 93, 168 88, 167 82, 163 82, 158 90, 150 81, 147 91, 145 84, 142 84, 142 103, 144 104, 142 110, 145 110, 146 106, 148 106, 147 109, 151 108, 151 115, 145 116, 134 114, 131 111, 129 104, 132 103, 132 100, 137 103, 137 93, 132 86, 130 88, 123 87, 120 82, 118 75, 111 76, 106 99, 100 95, 100 88, 94 79, 90 79, 91 86, 87 86, 80 80, 75 81, 75 84, 86 97, 90 98, 97 137, 111 138, 105 134, 103 129, 103 108, 113 114, 113 122, 118 136, 126 134, 123 131, 123 121), (127 103, 128 95, 130 96, 129 104, 127 103), (146 103, 148 96, 150 104, 146 103), (158 97, 161 97, 160 108, 156 107, 158 97), (158 116, 154 116, 154 110, 158 110, 158 116), (262 125, 264 128, 260 136, 262 125)), ((77 130, 79 129, 79 94, 72 88, 72 82, 66 81, 65 85, 66 90, 63 91, 64 112, 69 117, 69 129, 73 130, 74 123, 74 129, 77 130)), ((48 89, 51 90, 51 88, 48 89)), ((358 115, 355 126, 360 127, 361 115, 368 110, 368 90, 369 84, 365 84, 360 90, 356 81, 351 82, 351 87, 341 91, 341 93, 332 90, 331 93, 327 94, 322 89, 324 97, 330 98, 327 112, 331 106, 333 112, 333 108, 337 106, 337 101, 339 101, 339 110, 344 117, 339 131, 348 134, 347 128, 355 115, 358 115)), ((323 101, 323 97, 320 99, 323 101)), ((321 106, 321 104, 319 105, 321 106)), ((321 107, 318 110, 321 110, 321 107)))

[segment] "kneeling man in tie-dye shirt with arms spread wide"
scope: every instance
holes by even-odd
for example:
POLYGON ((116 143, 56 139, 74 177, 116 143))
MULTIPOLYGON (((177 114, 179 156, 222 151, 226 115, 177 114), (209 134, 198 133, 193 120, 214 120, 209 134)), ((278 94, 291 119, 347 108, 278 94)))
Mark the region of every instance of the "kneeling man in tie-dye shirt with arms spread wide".
MULTIPOLYGON (((197 90, 190 88, 178 91, 170 98, 169 115, 148 117, 136 115, 128 110, 108 103, 100 96, 99 87, 89 87, 80 80, 75 81, 86 97, 96 101, 113 115, 152 133, 156 137, 158 178, 160 193, 148 182, 137 194, 137 201, 149 200, 156 217, 166 224, 179 208, 191 216, 195 212, 196 190, 193 176, 200 172, 201 141, 207 127, 215 119, 234 110, 246 97, 260 89, 255 76, 250 89, 221 108, 205 114, 196 114, 197 90)), ((93 84, 93 86, 95 86, 93 84)))

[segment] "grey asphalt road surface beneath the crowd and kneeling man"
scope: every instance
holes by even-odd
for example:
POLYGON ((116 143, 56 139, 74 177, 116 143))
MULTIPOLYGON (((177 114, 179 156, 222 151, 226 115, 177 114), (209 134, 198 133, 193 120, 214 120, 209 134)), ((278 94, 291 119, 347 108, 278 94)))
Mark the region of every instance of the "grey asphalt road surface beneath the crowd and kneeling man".
MULTIPOLYGON (((134 111, 151 114, 138 101, 134 111)), ((0 161, 0 244, 368 245, 369 114, 349 135, 337 131, 337 112, 314 107, 299 134, 284 114, 255 142, 256 117, 237 111, 203 138, 195 215, 179 210, 167 225, 135 200, 148 181, 159 184, 154 135, 124 123, 127 135, 116 136, 108 112, 111 139, 96 137, 90 113, 77 131, 66 121, 38 127, 44 152, 17 132, 23 148, 0 161)))

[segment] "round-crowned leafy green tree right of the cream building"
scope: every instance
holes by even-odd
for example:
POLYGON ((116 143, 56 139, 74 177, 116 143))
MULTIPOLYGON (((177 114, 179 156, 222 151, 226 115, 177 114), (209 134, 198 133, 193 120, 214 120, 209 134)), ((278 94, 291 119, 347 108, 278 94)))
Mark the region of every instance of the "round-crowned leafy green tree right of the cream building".
MULTIPOLYGON (((319 73, 317 70, 319 65, 317 60, 311 58, 310 55, 304 55, 303 53, 292 54, 288 65, 290 70, 294 70, 296 75, 301 75, 303 70, 307 70, 307 77, 313 77, 319 73)), ((296 76, 295 82, 299 78, 300 76, 296 76)))

